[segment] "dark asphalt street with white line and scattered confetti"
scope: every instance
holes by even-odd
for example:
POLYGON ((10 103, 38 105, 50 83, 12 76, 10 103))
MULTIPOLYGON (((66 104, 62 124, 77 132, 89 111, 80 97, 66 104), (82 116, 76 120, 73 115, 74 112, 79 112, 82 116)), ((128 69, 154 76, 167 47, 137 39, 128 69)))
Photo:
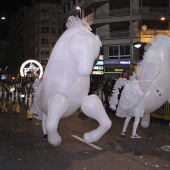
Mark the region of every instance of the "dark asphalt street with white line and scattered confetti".
POLYGON ((141 139, 131 139, 133 121, 125 137, 120 136, 124 119, 109 115, 111 129, 93 145, 81 141, 98 123, 78 112, 61 119, 62 142, 43 141, 41 121, 0 113, 0 170, 170 170, 170 127, 165 120, 151 119, 149 128, 138 127, 141 139))

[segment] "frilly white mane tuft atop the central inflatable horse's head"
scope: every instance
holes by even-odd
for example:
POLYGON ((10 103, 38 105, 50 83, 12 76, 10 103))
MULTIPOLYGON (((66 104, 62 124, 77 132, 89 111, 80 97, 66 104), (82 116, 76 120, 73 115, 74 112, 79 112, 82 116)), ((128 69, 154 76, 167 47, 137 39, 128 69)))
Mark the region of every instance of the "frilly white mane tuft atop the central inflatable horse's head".
POLYGON ((67 28, 70 28, 72 26, 79 26, 85 30, 88 30, 88 31, 92 31, 91 27, 89 26, 89 24, 84 21, 84 20, 81 20, 79 17, 74 17, 74 16, 70 16, 68 17, 68 20, 67 20, 67 23, 66 23, 66 26, 67 28))

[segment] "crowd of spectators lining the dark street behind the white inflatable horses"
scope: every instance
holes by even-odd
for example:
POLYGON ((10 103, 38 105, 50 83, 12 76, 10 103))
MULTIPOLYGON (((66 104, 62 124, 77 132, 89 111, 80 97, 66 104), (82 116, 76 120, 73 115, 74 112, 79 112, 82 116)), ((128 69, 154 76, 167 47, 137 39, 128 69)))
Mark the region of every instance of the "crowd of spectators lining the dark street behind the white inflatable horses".
MULTIPOLYGON (((118 77, 112 79, 91 79, 89 95, 96 94, 102 101, 104 108, 108 114, 115 114, 115 111, 111 110, 109 100, 112 95, 112 91, 115 82, 118 78, 129 78, 129 73, 124 72, 118 77)), ((20 106, 24 104, 27 118, 32 119, 32 113, 30 113, 30 107, 33 103, 34 88, 33 82, 0 82, 0 110, 1 112, 8 111, 8 104, 12 103, 13 114, 20 114, 20 106)), ((81 112, 81 109, 80 109, 81 112)))

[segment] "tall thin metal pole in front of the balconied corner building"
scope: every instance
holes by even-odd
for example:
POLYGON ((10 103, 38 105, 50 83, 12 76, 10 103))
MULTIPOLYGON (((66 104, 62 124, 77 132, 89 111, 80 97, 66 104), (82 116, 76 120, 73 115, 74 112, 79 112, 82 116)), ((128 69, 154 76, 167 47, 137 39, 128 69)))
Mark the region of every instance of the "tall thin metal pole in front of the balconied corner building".
POLYGON ((130 0, 130 74, 133 73, 132 0, 130 0))

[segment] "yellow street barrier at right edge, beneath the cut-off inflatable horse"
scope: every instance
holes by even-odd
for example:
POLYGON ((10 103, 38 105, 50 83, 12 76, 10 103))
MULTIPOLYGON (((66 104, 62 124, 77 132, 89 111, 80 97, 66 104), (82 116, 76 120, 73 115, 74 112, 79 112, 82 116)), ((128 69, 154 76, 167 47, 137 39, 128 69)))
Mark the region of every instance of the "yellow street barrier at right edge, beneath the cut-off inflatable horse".
POLYGON ((152 112, 151 117, 170 120, 170 104, 166 102, 158 110, 152 112))

